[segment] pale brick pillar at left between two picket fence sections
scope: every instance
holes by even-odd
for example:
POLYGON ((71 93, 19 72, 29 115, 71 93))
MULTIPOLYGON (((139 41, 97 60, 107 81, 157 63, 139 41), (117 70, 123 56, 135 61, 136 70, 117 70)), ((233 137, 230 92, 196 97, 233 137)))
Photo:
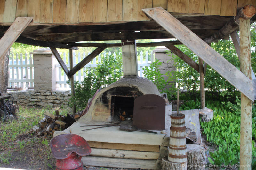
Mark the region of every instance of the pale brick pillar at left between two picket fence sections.
POLYGON ((30 54, 34 60, 34 90, 55 90, 58 61, 50 48, 40 48, 30 54))

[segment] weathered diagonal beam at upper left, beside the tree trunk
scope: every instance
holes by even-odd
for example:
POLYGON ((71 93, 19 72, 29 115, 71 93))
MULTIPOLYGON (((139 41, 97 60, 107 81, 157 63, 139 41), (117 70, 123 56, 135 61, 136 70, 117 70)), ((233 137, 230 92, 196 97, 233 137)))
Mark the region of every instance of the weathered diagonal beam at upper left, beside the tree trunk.
POLYGON ((16 41, 16 39, 20 36, 22 31, 28 26, 32 19, 33 17, 17 17, 15 19, 15 21, 0 40, 0 60, 4 57, 8 49, 11 48, 12 44, 16 41))

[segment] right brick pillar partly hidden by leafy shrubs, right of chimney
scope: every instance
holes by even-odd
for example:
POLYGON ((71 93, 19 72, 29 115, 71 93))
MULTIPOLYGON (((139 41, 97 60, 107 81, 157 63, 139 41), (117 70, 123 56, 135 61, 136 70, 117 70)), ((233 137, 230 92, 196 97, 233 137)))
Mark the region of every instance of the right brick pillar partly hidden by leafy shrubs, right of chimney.
MULTIPOLYGON (((162 66, 159 67, 160 73, 163 74, 164 80, 168 79, 168 76, 165 76, 165 73, 168 71, 176 71, 175 62, 172 60, 172 56, 175 56, 175 54, 171 53, 172 56, 170 56, 170 53, 167 53, 167 51, 170 51, 168 48, 156 48, 153 50, 155 53, 155 58, 159 60, 162 63, 162 66)), ((169 83, 175 83, 174 81, 169 83)), ((169 88, 170 86, 167 86, 169 88)))

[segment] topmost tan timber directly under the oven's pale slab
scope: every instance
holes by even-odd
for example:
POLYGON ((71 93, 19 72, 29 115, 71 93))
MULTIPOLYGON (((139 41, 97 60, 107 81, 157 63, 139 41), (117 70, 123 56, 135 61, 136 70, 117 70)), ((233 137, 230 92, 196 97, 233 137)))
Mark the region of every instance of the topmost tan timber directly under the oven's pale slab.
POLYGON ((159 152, 159 146, 156 146, 156 145, 119 144, 119 143, 106 143, 106 142, 94 142, 94 141, 87 141, 87 142, 92 148, 159 152))

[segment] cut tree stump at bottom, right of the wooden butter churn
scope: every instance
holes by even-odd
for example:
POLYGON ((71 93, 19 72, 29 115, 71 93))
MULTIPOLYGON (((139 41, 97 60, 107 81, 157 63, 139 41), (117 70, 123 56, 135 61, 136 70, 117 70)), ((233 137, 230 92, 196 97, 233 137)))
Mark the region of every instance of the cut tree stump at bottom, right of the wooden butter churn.
POLYGON ((204 147, 197 144, 187 144, 188 170, 204 170, 206 156, 204 147))

